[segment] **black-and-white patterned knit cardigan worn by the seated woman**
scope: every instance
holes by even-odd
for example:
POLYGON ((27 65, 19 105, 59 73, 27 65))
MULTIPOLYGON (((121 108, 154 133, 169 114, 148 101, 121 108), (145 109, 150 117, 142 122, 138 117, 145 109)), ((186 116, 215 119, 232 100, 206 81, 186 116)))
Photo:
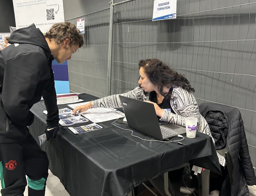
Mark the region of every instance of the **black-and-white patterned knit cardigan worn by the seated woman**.
MULTIPOLYGON (((143 89, 140 87, 120 95, 133 99, 150 101, 150 94, 148 92, 144 93, 143 89)), ((160 119, 161 121, 166 121, 185 127, 185 117, 196 117, 198 119, 198 131, 209 135, 212 138, 213 143, 215 143, 211 135, 209 125, 200 114, 197 102, 192 92, 189 92, 182 87, 174 88, 171 95, 171 106, 175 114, 170 111, 163 110, 163 115, 160 119)), ((119 94, 115 94, 93 101, 93 107, 119 108, 122 107, 122 105, 119 99, 119 94)), ((217 155, 220 164, 224 166, 225 158, 218 152, 217 155)))

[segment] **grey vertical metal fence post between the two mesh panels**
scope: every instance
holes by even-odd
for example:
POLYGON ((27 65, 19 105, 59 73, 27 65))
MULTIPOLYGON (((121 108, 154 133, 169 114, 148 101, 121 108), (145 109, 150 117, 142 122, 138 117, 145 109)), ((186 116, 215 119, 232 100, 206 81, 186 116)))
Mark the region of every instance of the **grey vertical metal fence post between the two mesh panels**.
POLYGON ((112 74, 112 47, 113 47, 113 21, 114 21, 114 0, 110 2, 109 20, 109 45, 108 45, 108 95, 111 95, 111 74, 112 74))

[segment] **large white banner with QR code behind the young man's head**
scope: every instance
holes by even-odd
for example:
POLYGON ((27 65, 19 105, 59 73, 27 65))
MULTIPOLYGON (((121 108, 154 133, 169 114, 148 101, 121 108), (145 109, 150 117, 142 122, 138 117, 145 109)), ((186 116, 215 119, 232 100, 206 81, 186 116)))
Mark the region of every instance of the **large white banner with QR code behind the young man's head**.
POLYGON ((43 33, 54 23, 64 22, 62 0, 13 0, 16 28, 34 23, 43 33))

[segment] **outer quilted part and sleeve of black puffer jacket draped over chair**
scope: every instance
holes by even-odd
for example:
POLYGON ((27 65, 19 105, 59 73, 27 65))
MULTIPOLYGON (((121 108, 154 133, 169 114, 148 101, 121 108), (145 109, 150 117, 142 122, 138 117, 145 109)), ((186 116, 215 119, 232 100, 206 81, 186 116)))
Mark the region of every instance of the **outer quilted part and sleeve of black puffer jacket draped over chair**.
MULTIPOLYGON (((239 194, 239 191, 248 185, 256 183, 255 173, 249 156, 248 144, 245 135, 242 115, 237 108, 215 103, 202 103, 199 111, 203 117, 209 111, 219 111, 227 119, 228 130, 226 138, 227 151, 225 152, 226 165, 231 182, 231 195, 239 194), (243 172, 240 167, 244 168, 243 172), (245 180, 241 180, 245 178, 245 180)), ((217 150, 218 152, 218 150, 217 150)))

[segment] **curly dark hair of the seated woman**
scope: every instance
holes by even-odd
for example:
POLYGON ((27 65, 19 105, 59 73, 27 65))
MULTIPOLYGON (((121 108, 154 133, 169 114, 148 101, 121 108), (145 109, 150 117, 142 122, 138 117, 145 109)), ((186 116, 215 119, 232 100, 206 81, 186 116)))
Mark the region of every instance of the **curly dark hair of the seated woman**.
POLYGON ((171 90, 169 93, 163 92, 163 87, 177 88, 182 87, 185 90, 195 92, 194 88, 191 87, 187 78, 184 75, 170 69, 166 64, 158 59, 146 59, 139 61, 139 69, 143 67, 145 74, 148 76, 150 82, 158 87, 158 91, 165 97, 170 97, 171 90))

